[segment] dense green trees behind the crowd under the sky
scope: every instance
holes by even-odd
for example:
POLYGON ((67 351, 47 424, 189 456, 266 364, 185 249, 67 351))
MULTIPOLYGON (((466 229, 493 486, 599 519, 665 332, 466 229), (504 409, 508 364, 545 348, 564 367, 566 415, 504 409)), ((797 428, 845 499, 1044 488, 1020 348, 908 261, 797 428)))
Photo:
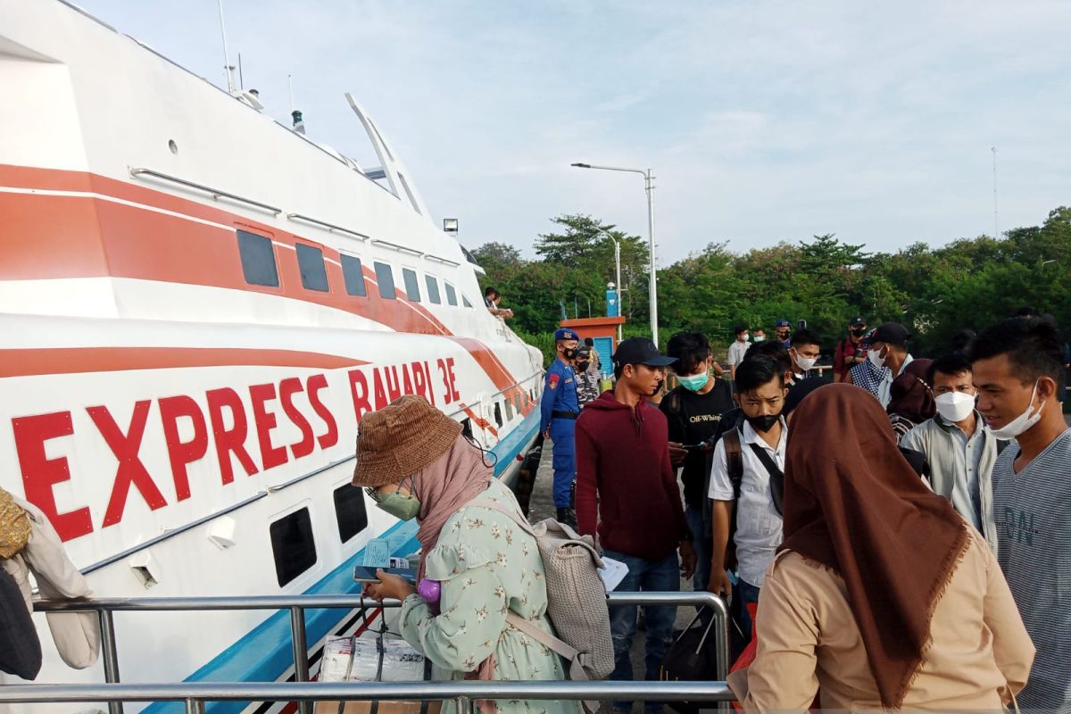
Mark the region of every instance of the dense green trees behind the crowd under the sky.
MULTIPOLYGON (((625 336, 650 334, 647 304, 647 244, 586 215, 553 219, 555 230, 536 240, 538 260, 524 260, 510 245, 488 243, 473 254, 516 313, 512 326, 549 361, 550 333, 574 304, 587 317, 605 308, 614 279, 614 244, 621 244, 625 336), (546 346, 544 346, 546 343, 546 346)), ((1015 228, 1002 239, 981 236, 931 248, 916 243, 896 253, 866 254, 832 234, 799 244, 780 243, 744 254, 727 243, 702 250, 659 271, 659 335, 663 347, 679 330, 707 334, 715 353, 745 322, 772 333, 773 322, 804 319, 831 351, 853 315, 871 325, 892 320, 914 335, 912 351, 936 354, 952 334, 981 330, 1023 306, 1052 314, 1071 325, 1071 209, 1058 208, 1041 226, 1015 228)), ((771 334, 772 336, 772 334, 771 334)))

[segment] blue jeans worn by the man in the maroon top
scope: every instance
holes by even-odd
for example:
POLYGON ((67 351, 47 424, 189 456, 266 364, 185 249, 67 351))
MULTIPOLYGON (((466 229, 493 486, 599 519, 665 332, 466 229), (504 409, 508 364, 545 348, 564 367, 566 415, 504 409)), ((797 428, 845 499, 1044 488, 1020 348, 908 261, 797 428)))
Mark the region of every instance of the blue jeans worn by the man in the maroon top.
MULTIPOLYGON (((661 560, 647 560, 634 556, 607 550, 604 553, 624 563, 629 573, 624 576, 615 592, 673 592, 680 590, 680 563, 677 553, 670 553, 661 560)), ((657 680, 659 666, 666 650, 673 641, 673 624, 677 619, 677 608, 667 606, 644 606, 644 621, 647 625, 647 654, 645 657, 645 679, 657 680)), ((609 632, 614 638, 614 672, 612 680, 619 682, 632 681, 632 662, 629 651, 632 649, 632 638, 636 634, 636 608, 615 607, 609 611, 609 632)), ((662 709, 661 702, 646 703, 649 712, 662 709)), ((629 711, 631 701, 615 701, 615 710, 629 711)))

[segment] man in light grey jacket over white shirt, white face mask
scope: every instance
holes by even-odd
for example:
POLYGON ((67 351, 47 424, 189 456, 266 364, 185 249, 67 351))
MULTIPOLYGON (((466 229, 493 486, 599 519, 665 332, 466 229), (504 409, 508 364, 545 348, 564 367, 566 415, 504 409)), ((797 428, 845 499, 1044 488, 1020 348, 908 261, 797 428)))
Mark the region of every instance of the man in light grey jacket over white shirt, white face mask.
POLYGON ((970 360, 959 352, 937 358, 926 370, 926 381, 933 386, 937 413, 905 434, 900 445, 925 456, 934 492, 947 498, 996 550, 993 465, 1000 444, 976 409, 970 360))

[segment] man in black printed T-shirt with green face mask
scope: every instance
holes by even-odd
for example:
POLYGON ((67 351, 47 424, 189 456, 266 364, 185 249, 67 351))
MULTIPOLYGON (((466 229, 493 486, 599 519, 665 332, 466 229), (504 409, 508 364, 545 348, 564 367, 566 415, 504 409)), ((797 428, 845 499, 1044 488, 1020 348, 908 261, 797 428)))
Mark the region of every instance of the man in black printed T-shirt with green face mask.
POLYGON ((707 444, 722 422, 722 414, 733 409, 729 383, 710 374, 714 359, 706 335, 678 332, 666 344, 667 356, 676 360, 673 370, 678 385, 659 404, 669 428, 669 460, 681 468, 684 484, 684 517, 692 530, 695 547, 695 590, 705 590, 710 581, 710 510, 707 503, 707 478, 710 453, 707 444), (684 445, 690 446, 684 449, 684 445))

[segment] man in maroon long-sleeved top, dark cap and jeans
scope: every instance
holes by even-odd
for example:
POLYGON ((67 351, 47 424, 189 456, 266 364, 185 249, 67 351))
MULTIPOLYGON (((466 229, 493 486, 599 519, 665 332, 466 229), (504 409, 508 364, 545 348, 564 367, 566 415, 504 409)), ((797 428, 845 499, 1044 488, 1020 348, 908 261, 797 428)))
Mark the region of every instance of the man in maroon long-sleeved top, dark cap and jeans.
MULTIPOLYGON (((629 567, 618 592, 680 590, 681 574, 690 578, 695 571, 692 534, 669 464, 666 417, 647 402, 673 362, 646 337, 623 340, 614 353, 617 386, 588 404, 576 420, 576 521, 582 534, 598 533, 603 555, 629 567)), ((648 680, 658 679, 676 614, 675 607, 644 608, 648 680)), ((610 610, 612 680, 632 679, 629 650, 635 633, 636 608, 610 610)), ((615 711, 631 707, 614 702, 615 711)), ((662 709, 654 701, 646 707, 648 712, 662 709)))

